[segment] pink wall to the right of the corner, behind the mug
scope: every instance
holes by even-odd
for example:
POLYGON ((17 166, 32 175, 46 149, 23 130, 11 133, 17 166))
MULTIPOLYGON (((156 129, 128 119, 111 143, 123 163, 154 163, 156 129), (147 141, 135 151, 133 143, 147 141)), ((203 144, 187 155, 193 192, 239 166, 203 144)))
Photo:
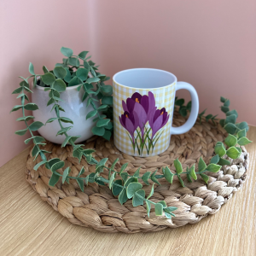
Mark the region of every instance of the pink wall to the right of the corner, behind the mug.
POLYGON ((94 11, 103 73, 164 69, 195 86, 201 111, 222 118, 219 97, 229 97, 238 121, 256 125, 255 0, 96 0, 94 11))

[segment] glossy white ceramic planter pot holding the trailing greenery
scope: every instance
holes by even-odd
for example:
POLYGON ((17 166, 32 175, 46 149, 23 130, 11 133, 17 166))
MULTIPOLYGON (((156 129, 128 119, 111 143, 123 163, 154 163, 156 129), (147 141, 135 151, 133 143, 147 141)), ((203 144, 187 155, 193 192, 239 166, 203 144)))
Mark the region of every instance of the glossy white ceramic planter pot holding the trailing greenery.
MULTIPOLYGON (((69 123, 61 123, 64 127, 73 126, 73 128, 67 131, 69 136, 81 136, 75 141, 75 143, 83 142, 84 140, 90 138, 93 134, 91 128, 96 125, 90 118, 86 120, 86 115, 93 108, 91 106, 86 107, 87 99, 82 102, 82 96, 84 95, 84 89, 81 88, 78 91, 79 85, 67 87, 67 89, 61 92, 61 100, 64 102, 59 102, 59 105, 64 108, 65 112, 60 111, 60 115, 73 120, 73 125, 69 123)), ((47 107, 47 102, 49 101, 49 91, 44 91, 44 87, 36 85, 32 90, 32 102, 38 105, 38 110, 32 112, 35 117, 34 121, 40 121, 46 123, 50 118, 55 118, 55 110, 51 111, 53 104, 47 107)), ((99 106, 99 103, 96 106, 99 106)), ((65 140, 65 135, 56 136, 57 132, 61 130, 58 120, 53 121, 47 125, 42 126, 38 132, 42 137, 47 139, 52 143, 61 144, 65 140)))

